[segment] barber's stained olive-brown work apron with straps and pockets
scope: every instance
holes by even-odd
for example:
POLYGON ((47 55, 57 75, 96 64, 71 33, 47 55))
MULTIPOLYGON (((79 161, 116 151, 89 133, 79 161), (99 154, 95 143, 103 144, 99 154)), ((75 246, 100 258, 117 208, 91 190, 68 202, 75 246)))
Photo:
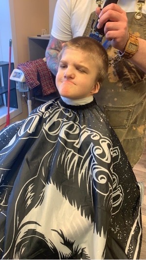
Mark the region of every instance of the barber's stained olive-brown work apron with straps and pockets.
MULTIPOLYGON (((127 16, 129 32, 146 39, 146 15, 143 14, 139 20, 135 19, 134 12, 127 13, 127 16)), ((89 36, 94 17, 97 19, 95 12, 91 14, 84 36, 89 36)), ((109 60, 117 54, 112 46, 107 52, 109 60)), ((144 149, 146 74, 128 59, 122 59, 109 68, 108 77, 95 98, 117 133, 133 167, 144 149)))

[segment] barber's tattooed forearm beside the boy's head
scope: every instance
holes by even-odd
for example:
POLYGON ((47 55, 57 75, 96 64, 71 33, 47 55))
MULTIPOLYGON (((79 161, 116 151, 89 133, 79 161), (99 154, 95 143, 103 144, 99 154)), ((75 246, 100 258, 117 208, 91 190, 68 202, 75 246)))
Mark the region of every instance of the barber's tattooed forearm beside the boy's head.
POLYGON ((58 65, 57 65, 57 61, 58 61, 58 54, 59 52, 56 50, 52 50, 52 49, 47 49, 45 56, 46 56, 46 62, 47 62, 47 66, 48 68, 51 70, 51 72, 56 75, 57 74, 57 70, 58 70, 58 65))

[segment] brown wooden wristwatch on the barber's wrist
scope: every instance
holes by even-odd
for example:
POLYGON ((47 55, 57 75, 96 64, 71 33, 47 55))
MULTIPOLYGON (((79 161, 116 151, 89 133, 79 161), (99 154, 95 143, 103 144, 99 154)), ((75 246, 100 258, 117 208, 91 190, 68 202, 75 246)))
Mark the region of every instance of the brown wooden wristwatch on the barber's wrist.
POLYGON ((129 34, 129 39, 125 45, 125 50, 124 53, 121 54, 120 56, 122 56, 123 58, 129 59, 131 58, 138 50, 138 37, 136 37, 135 35, 129 34))

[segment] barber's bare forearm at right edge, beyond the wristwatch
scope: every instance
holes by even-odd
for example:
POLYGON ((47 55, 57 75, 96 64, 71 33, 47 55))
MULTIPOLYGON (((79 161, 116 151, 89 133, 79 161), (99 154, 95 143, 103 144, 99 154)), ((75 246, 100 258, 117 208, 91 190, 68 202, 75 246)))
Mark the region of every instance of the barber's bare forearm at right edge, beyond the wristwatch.
POLYGON ((141 38, 138 38, 138 40, 138 51, 133 55, 132 58, 130 58, 130 60, 146 73, 146 40, 141 38))

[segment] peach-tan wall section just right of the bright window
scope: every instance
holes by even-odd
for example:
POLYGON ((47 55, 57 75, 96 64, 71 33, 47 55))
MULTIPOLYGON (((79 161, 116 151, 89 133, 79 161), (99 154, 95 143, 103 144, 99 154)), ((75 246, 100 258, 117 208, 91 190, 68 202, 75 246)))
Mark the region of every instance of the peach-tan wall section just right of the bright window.
MULTIPOLYGON (((3 0, 4 1, 4 0, 3 0)), ((41 34, 41 29, 49 32, 49 0, 9 0, 11 11, 14 63, 29 60, 28 36, 41 34)))

